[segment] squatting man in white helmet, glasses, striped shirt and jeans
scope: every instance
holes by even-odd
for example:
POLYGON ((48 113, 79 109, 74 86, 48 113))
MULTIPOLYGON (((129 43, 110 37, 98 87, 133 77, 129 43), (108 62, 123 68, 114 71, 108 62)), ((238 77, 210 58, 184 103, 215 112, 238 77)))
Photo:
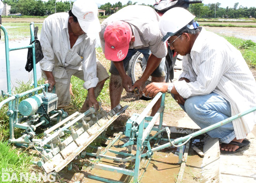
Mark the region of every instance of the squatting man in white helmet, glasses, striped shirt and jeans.
MULTIPOLYGON (((183 56, 183 72, 175 83, 151 83, 145 95, 172 93, 176 102, 202 129, 256 106, 256 82, 240 51, 223 37, 197 27, 183 8, 168 10, 159 22, 171 49, 183 56), (173 16, 176 20, 171 19, 173 16)), ((207 134, 222 143, 221 153, 249 146, 256 112, 213 129, 207 134)))

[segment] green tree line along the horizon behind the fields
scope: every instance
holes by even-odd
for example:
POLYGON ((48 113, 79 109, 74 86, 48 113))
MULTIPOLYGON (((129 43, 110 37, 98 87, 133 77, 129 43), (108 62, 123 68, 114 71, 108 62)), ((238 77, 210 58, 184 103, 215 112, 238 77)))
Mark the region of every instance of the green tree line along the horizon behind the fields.
MULTIPOLYGON (((21 13, 22 15, 32 16, 45 16, 54 14, 57 12, 68 12, 70 7, 73 5, 71 1, 56 2, 56 0, 48 0, 43 2, 42 0, 3 0, 3 3, 11 5, 10 14, 21 13)), ((99 9, 106 10, 106 15, 111 15, 123 7, 128 5, 135 5, 137 2, 128 1, 126 4, 118 3, 105 3, 100 5, 99 9)), ((142 3, 140 5, 146 5, 142 3)), ((243 7, 239 6, 239 3, 235 3, 233 7, 220 7, 221 3, 209 3, 205 5, 203 3, 189 5, 189 11, 194 14, 197 18, 249 18, 250 16, 256 18, 255 7, 243 7)), ((152 5, 147 4, 154 8, 152 5)))

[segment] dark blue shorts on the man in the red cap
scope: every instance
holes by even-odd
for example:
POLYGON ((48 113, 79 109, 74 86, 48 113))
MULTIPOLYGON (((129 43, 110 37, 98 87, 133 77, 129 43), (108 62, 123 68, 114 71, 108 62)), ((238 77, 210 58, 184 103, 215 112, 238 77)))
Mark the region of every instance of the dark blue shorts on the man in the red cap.
MULTIPOLYGON (((149 55, 151 54, 149 49, 129 49, 125 59, 123 59, 125 71, 128 70, 129 62, 130 62, 132 56, 135 55, 135 53, 137 51, 139 51, 140 53, 143 54, 143 56, 145 57, 145 60, 146 60, 145 62, 147 62, 147 60, 149 59, 149 55)), ((147 63, 145 63, 145 64, 147 64, 147 63)), ((166 75, 166 73, 164 71, 164 65, 165 65, 165 59, 162 59, 161 63, 156 68, 156 70, 153 71, 151 76, 164 77, 166 75)), ((113 75, 119 75, 118 69, 116 69, 115 65, 113 64, 113 61, 111 61, 111 66, 110 66, 109 72, 113 75)))

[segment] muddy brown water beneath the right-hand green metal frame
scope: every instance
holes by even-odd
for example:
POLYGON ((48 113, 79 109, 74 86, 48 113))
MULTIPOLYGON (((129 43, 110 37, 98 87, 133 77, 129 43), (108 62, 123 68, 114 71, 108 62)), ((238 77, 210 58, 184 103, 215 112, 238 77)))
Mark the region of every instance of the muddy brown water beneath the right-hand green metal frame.
MULTIPOLYGON (((127 142, 128 138, 125 137, 125 140, 120 139, 120 141, 116 142, 115 145, 118 144, 123 144, 127 142)), ((163 144, 166 142, 161 142, 160 144, 163 144)), ((114 151, 120 151, 120 152, 125 152, 128 153, 127 148, 115 148, 111 147, 111 150, 114 151)), ((154 152, 154 155, 149 163, 149 166, 147 168, 146 164, 147 161, 142 159, 140 163, 140 174, 139 177, 142 176, 142 173, 145 171, 142 179, 140 180, 141 183, 151 183, 151 182, 159 182, 159 183, 174 183, 175 178, 178 175, 179 169, 180 169, 180 164, 178 164, 178 155, 176 155, 177 149, 174 147, 168 147, 166 149, 163 149, 158 152, 154 152)), ((136 154, 136 149, 133 147, 132 154, 136 154)), ((122 155, 117 155, 111 152, 107 152, 108 156, 113 156, 116 158, 126 158, 126 156, 122 155)), ((109 166, 116 166, 119 168, 125 168, 125 169, 130 169, 133 170, 135 161, 128 161, 126 163, 120 163, 117 161, 112 161, 108 159, 102 159, 99 163, 109 165, 109 166)), ((112 171, 105 171, 105 170, 100 170, 100 169, 92 169, 89 172, 81 171, 80 172, 83 175, 97 175, 100 177, 104 177, 110 180, 115 180, 115 181, 122 181, 122 182, 133 182, 133 177, 128 176, 128 175, 123 175, 121 173, 115 173, 112 171)), ((79 176, 76 177, 71 171, 66 173, 65 176, 70 176, 73 175, 72 180, 75 181, 81 181, 81 182, 88 182, 88 183, 97 183, 100 181, 97 180, 92 180, 88 177, 79 176)), ((64 177, 65 177, 64 176, 64 177)), ((78 175, 77 175, 78 176, 78 175)), ((67 177, 65 177, 67 178, 67 177)), ((69 180, 71 178, 69 177, 69 180)))

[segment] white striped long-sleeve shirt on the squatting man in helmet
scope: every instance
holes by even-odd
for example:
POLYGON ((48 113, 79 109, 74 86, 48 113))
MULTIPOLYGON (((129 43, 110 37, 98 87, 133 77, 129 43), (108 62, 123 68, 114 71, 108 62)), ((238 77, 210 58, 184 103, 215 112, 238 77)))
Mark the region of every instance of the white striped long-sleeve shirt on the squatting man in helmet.
MULTIPOLYGON (((174 86, 183 98, 212 91, 231 105, 232 116, 256 106, 256 82, 240 51, 226 39, 202 28, 191 53, 183 56, 183 72, 174 86)), ((256 112, 233 120, 237 139, 246 138, 256 123, 256 112)))

